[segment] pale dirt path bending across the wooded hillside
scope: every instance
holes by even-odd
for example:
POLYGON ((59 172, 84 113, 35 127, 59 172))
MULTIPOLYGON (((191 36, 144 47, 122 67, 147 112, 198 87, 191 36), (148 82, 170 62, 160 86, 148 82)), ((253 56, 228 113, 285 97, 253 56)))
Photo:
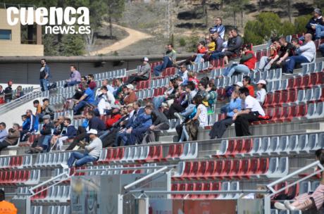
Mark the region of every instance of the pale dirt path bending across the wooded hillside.
MULTIPOLYGON (((104 25, 109 25, 108 23, 104 22, 104 25)), ((119 27, 120 29, 125 30, 129 35, 128 37, 126 37, 125 39, 122 39, 118 42, 115 42, 114 44, 110 45, 110 46, 106 46, 102 49, 96 50, 96 51, 92 51, 90 53, 91 56, 94 55, 99 55, 99 54, 107 54, 107 53, 111 53, 113 51, 118 51, 120 49, 123 49, 127 46, 130 46, 131 44, 135 44, 136 42, 139 42, 139 40, 142 39, 148 39, 151 38, 152 36, 149 34, 146 34, 144 32, 139 32, 137 30, 132 30, 130 28, 127 27, 122 27, 120 25, 116 25, 113 24, 114 27, 119 27)))

